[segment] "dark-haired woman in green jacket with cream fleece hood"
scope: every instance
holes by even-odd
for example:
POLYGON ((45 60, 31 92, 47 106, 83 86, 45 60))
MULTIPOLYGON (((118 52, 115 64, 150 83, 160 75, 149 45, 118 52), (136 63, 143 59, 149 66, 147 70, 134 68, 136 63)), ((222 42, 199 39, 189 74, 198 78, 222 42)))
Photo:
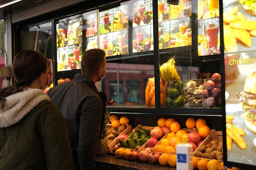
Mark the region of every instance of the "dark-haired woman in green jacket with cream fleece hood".
POLYGON ((1 170, 74 169, 65 119, 43 91, 48 69, 37 51, 21 51, 13 60, 17 83, 0 89, 1 170))

